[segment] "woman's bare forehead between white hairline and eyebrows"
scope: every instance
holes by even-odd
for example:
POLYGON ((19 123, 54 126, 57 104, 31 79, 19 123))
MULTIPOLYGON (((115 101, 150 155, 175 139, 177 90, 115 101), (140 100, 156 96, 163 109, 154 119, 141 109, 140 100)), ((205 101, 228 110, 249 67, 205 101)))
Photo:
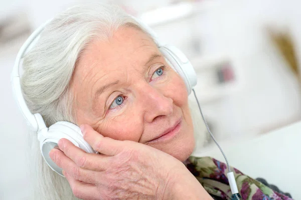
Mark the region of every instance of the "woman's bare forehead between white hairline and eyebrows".
POLYGON ((124 67, 127 64, 145 63, 156 54, 161 53, 153 39, 141 30, 125 27, 117 30, 108 40, 92 40, 83 51, 77 66, 82 69, 81 72, 88 72, 95 65, 107 71, 114 64, 124 67))

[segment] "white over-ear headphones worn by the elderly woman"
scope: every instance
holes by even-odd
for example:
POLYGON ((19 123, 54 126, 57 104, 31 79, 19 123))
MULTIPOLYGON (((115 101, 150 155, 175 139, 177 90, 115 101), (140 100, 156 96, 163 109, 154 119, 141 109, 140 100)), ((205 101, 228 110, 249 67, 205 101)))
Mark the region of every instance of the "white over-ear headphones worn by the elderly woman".
MULTIPOLYGON (((133 17, 134 18, 134 17, 133 17)), ((153 36, 154 40, 157 42, 161 53, 165 56, 168 63, 180 74, 184 79, 188 93, 190 94, 193 87, 197 84, 197 75, 189 62, 186 55, 177 47, 164 45, 161 43, 156 36, 155 32, 150 29, 146 24, 137 18, 134 18, 142 28, 144 28, 150 35, 153 36)), ((50 20, 49 20, 50 21, 50 20)), ((16 58, 16 62, 12 72, 12 85, 13 92, 19 108, 23 116, 25 117, 27 124, 31 126, 34 131, 38 132, 38 139, 40 141, 41 153, 47 162, 47 164, 57 173, 63 176, 62 169, 52 161, 49 157, 49 152, 52 148, 57 146, 59 139, 66 138, 70 140, 74 145, 82 148, 86 152, 94 153, 95 151, 92 147, 83 139, 82 132, 80 128, 68 121, 58 121, 51 125, 49 128, 46 126, 43 117, 40 113, 33 114, 24 99, 20 83, 20 62, 21 59, 27 54, 27 52, 35 45, 40 37, 40 33, 44 29, 45 25, 49 22, 47 21, 39 28, 37 28, 30 37, 25 41, 16 58)))

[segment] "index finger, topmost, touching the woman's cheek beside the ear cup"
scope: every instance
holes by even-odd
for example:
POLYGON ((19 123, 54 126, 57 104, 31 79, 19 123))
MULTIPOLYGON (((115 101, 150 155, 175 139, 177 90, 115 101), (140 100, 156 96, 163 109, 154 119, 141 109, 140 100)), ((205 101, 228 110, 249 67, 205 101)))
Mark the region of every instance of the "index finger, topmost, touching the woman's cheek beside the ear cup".
POLYGON ((116 155, 123 149, 122 141, 102 136, 90 125, 80 126, 84 139, 92 146, 94 150, 105 155, 116 155))

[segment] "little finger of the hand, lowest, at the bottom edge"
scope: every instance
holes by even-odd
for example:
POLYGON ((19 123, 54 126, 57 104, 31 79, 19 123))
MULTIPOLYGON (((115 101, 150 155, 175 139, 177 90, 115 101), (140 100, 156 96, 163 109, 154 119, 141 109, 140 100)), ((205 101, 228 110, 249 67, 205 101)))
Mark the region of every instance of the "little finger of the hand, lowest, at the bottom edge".
POLYGON ((68 172, 63 171, 68 180, 73 194, 80 199, 100 199, 96 185, 86 183, 72 177, 68 172))

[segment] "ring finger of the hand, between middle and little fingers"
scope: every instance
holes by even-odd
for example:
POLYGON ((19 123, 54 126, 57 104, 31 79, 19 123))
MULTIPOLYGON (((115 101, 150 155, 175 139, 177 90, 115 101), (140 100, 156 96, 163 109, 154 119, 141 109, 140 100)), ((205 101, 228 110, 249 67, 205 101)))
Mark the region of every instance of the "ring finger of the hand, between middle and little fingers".
POLYGON ((69 157, 67 157, 63 151, 56 148, 51 149, 49 152, 50 158, 62 169, 67 171, 71 176, 77 180, 81 180, 87 183, 96 183, 94 177, 96 177, 96 171, 81 168, 75 164, 69 157))

